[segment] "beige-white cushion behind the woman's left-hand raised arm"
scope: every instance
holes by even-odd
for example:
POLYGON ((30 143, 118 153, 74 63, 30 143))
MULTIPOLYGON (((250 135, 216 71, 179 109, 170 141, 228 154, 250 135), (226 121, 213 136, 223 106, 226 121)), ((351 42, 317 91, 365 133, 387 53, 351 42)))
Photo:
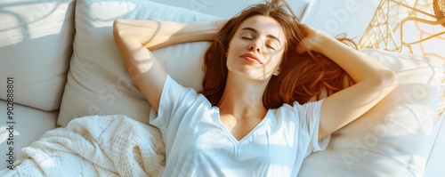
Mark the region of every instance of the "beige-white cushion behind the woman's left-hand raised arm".
MULTIPOLYGON (((77 0, 74 54, 58 125, 75 117, 124 114, 149 124, 150 105, 128 74, 112 35, 113 20, 215 20, 213 16, 144 0, 77 0)), ((154 51, 174 79, 201 88, 202 55, 208 42, 154 51)))

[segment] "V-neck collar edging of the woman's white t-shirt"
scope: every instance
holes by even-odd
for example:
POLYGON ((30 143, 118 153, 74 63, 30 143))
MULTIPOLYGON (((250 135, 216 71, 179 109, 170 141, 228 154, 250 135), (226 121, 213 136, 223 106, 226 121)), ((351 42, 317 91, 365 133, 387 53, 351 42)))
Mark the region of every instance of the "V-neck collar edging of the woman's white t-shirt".
POLYGON ((262 129, 265 122, 267 122, 267 120, 270 119, 270 114, 271 114, 271 109, 268 109, 266 112, 266 115, 263 117, 263 120, 261 120, 260 123, 258 123, 258 125, 255 125, 254 129, 252 129, 249 133, 246 134, 246 136, 244 136, 243 138, 241 138, 241 140, 237 140, 235 138, 235 136, 233 136, 233 134, 231 133, 231 131, 229 131, 229 129, 227 129, 227 127, 223 124, 223 122, 221 121, 221 117, 220 117, 220 109, 218 107, 214 107, 213 108, 214 111, 214 118, 216 119, 215 121, 217 122, 217 124, 219 126, 222 126, 224 133, 226 134, 226 136, 229 137, 229 139, 231 141, 233 141, 234 143, 238 144, 240 142, 243 141, 247 141, 250 137, 252 137, 254 135, 255 132, 257 132, 259 129, 262 129))

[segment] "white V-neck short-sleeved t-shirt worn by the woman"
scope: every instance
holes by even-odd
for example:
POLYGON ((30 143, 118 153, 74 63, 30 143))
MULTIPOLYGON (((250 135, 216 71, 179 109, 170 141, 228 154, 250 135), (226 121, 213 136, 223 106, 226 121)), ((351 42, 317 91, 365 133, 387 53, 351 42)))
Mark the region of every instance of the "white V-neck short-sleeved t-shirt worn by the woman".
POLYGON ((163 176, 296 176, 304 157, 328 145, 330 136, 318 141, 321 102, 269 109, 238 141, 218 107, 167 76, 150 114, 166 144, 163 176))

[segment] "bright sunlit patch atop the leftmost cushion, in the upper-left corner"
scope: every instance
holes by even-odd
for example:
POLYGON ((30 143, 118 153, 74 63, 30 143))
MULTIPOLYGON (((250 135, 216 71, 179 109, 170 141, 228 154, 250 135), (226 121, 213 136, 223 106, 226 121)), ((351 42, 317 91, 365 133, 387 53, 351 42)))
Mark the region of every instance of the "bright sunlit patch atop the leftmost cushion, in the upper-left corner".
POLYGON ((1 4, 0 47, 61 33, 69 2, 1 4))

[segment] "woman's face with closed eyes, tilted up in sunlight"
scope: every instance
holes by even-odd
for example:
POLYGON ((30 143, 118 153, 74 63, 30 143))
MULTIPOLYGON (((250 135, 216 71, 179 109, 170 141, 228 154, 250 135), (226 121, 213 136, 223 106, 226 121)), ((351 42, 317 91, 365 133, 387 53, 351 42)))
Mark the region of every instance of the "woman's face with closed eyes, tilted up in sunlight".
POLYGON ((278 74, 285 44, 283 28, 276 20, 255 15, 243 21, 231 38, 227 68, 231 74, 268 81, 278 74))

